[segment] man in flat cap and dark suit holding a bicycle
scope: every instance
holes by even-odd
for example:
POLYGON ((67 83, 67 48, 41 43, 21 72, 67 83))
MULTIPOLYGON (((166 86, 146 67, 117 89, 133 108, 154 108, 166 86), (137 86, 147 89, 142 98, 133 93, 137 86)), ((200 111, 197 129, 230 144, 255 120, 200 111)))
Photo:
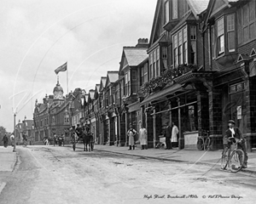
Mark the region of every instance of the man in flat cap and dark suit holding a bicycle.
MULTIPOLYGON (((228 123, 229 128, 226 130, 226 135, 224 138, 229 139, 236 138, 238 140, 237 149, 241 149, 244 152, 244 163, 242 164, 242 168, 247 168, 247 161, 248 161, 248 155, 247 155, 247 145, 246 145, 246 139, 243 137, 241 130, 238 127, 235 127, 236 122, 233 120, 230 120, 228 123)), ((225 139, 224 139, 225 140, 225 139)))

